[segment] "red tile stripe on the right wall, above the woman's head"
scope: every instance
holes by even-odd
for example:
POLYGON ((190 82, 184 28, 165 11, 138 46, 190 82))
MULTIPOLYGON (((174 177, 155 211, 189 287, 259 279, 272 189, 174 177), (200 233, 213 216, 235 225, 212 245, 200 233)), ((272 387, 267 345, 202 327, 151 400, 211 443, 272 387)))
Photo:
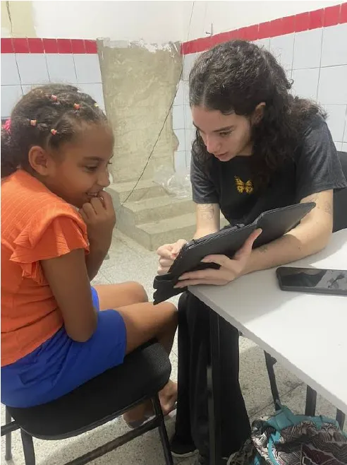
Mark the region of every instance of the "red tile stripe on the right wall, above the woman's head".
POLYGON ((267 23, 250 25, 246 28, 231 30, 228 33, 212 35, 212 37, 201 37, 200 39, 183 42, 181 54, 188 55, 190 53, 204 52, 204 50, 214 47, 214 45, 232 39, 267 39, 343 23, 347 23, 347 2, 316 11, 286 16, 286 18, 275 19, 267 23))

